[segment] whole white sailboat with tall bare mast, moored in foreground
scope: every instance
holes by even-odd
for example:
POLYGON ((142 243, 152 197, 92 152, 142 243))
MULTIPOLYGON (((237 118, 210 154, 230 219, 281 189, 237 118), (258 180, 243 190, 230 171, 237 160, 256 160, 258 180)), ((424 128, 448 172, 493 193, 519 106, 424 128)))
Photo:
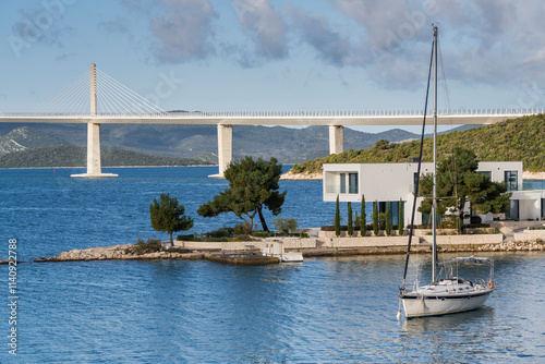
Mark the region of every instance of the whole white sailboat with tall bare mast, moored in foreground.
MULTIPOLYGON (((416 198, 419 195, 419 183, 416 181, 414 203, 412 207, 411 229, 409 234, 409 244, 407 248, 405 267, 403 272, 403 284, 400 287, 400 307, 398 318, 401 317, 401 303, 403 304, 407 318, 423 316, 439 316, 446 314, 460 313, 480 308, 494 291, 494 262, 487 257, 457 257, 451 260, 438 263, 437 260, 437 40, 438 27, 433 26, 434 37, 432 44, 432 58, 429 60, 429 73, 427 89, 429 90, 429 78, 432 69, 434 70, 434 186, 433 186, 433 208, 432 208, 432 230, 433 230, 433 257, 432 257, 432 282, 420 286, 419 281, 409 290, 405 288, 407 270, 409 266, 409 256, 411 251, 411 239, 413 235, 414 214, 416 198), (460 266, 471 264, 485 266, 489 268, 488 278, 470 281, 461 278, 459 274, 460 266), (438 268, 440 268, 437 274, 438 268)), ((420 179, 422 149, 424 141, 424 128, 426 123, 427 94, 424 108, 424 122, 422 126, 422 138, 419 158, 417 175, 420 179)))

